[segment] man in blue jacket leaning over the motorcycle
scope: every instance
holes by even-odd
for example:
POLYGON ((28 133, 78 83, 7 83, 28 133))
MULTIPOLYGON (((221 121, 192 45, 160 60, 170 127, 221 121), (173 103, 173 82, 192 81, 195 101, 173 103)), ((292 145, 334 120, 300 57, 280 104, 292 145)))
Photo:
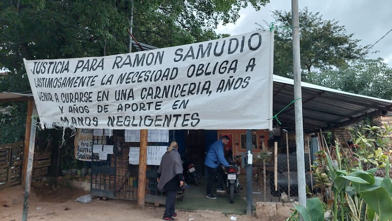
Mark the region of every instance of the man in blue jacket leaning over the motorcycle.
POLYGON ((229 136, 224 135, 218 141, 215 141, 208 148, 206 160, 204 161, 204 165, 206 165, 208 180, 207 180, 207 195, 208 199, 216 199, 214 195, 212 195, 212 183, 215 180, 217 172, 219 172, 218 183, 217 183, 217 191, 225 191, 223 190, 223 170, 220 170, 220 164, 225 167, 229 167, 229 163, 225 159, 225 155, 223 154, 223 147, 229 143, 229 136))

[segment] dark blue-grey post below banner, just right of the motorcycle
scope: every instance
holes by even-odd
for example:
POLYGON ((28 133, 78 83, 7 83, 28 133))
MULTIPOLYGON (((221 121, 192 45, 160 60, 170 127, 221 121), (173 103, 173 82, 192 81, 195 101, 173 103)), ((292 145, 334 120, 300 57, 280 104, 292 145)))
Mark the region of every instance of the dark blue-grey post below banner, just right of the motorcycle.
MULTIPOLYGON (((252 152, 252 130, 246 130, 246 153, 250 150, 252 152)), ((245 162, 245 171, 246 171, 246 215, 252 215, 252 182, 253 182, 253 173, 252 173, 252 165, 247 164, 245 162)))

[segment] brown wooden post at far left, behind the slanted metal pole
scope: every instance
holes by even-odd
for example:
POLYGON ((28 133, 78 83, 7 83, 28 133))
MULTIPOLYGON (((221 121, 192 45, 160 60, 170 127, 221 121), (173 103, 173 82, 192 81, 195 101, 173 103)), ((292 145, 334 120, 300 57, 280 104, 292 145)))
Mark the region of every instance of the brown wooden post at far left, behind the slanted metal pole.
POLYGON ((35 106, 34 100, 27 101, 26 131, 24 132, 23 162, 22 162, 22 177, 21 177, 22 186, 26 184, 27 160, 29 160, 31 121, 32 121, 34 106, 35 106))

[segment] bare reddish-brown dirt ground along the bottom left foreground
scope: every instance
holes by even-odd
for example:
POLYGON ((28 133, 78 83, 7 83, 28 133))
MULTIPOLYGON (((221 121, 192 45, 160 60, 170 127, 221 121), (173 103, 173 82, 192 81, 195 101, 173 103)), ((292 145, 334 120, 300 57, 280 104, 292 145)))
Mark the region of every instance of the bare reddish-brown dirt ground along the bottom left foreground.
MULTIPOLYGON (((146 204, 138 209, 137 202, 122 200, 102 200, 93 198, 90 203, 75 201, 89 192, 65 186, 54 186, 37 182, 32 186, 29 198, 28 220, 162 220, 163 206, 146 204)), ((12 186, 0 189, 0 220, 22 219, 24 187, 12 186)), ((215 211, 176 211, 178 220, 260 220, 256 216, 229 214, 215 211)), ((283 220, 277 219, 275 220, 283 220)))

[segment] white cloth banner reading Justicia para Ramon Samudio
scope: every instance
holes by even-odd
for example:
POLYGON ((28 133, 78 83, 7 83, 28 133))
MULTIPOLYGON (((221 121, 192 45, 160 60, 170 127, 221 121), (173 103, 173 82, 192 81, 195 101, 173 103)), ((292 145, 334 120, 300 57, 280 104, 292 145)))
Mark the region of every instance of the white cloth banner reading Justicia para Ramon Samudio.
POLYGON ((48 128, 271 128, 270 31, 105 57, 23 61, 48 128))

